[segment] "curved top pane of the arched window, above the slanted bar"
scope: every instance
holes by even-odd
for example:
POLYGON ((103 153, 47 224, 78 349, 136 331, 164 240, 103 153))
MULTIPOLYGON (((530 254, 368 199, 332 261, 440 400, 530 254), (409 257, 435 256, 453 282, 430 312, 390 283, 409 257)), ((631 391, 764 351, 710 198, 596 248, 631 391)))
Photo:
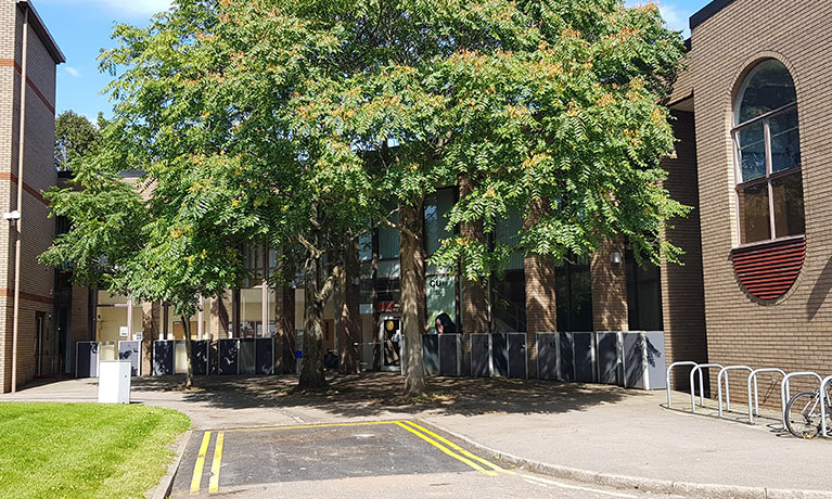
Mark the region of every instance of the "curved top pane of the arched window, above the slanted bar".
POLYGON ((735 125, 797 101, 794 81, 780 61, 769 59, 748 74, 740 94, 735 125))

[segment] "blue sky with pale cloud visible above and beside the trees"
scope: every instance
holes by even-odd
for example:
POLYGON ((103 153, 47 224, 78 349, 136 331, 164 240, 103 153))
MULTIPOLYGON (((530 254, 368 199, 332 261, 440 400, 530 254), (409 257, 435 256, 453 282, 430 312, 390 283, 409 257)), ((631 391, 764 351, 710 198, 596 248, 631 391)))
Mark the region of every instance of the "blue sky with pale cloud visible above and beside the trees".
MULTIPOLYGON (((647 0, 627 0, 628 4, 647 0)), ((658 0, 667 24, 688 34, 688 18, 709 0, 658 0)), ((57 112, 74 110, 94 119, 99 112, 110 115, 111 104, 101 90, 108 75, 98 71, 102 48, 113 46, 110 35, 115 22, 144 25, 154 12, 166 9, 169 0, 34 0, 66 64, 57 68, 57 112)))

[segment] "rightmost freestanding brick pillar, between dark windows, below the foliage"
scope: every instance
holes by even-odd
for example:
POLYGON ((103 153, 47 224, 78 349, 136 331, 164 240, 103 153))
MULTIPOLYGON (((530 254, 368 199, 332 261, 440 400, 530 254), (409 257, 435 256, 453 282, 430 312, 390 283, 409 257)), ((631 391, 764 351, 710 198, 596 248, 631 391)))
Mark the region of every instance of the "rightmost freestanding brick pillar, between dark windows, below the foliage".
POLYGON ((624 244, 607 241, 601 244, 589 264, 592 280, 592 329, 596 331, 627 331, 627 273, 624 244), (620 263, 613 264, 613 253, 620 263))

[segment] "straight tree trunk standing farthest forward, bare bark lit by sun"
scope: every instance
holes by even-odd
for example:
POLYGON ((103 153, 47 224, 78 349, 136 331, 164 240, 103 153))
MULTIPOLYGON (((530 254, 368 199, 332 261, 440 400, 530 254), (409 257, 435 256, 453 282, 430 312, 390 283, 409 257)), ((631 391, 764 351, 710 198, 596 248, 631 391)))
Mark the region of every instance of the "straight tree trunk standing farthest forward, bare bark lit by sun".
POLYGON ((410 396, 424 393, 422 369, 422 334, 425 331, 425 269, 422 247, 421 203, 402 206, 400 223, 401 329, 405 336, 405 393, 410 396), (415 235, 415 238, 414 238, 415 235))

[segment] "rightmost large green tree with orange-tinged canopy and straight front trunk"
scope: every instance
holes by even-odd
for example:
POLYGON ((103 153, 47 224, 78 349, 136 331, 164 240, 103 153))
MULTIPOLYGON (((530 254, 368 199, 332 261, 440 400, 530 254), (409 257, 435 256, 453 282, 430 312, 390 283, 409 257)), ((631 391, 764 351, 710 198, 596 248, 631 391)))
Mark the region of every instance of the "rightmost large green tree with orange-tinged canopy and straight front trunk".
MULTIPOLYGON (((300 0, 232 2, 259 20, 268 59, 283 50, 315 75, 285 99, 296 123, 362 157, 375 202, 398 205, 406 392, 424 389, 425 197, 464 176, 474 185, 450 223, 486 232, 532 213, 516 245, 561 258, 626 238, 639 257, 674 259, 661 227, 686 208, 662 189, 673 150, 662 106, 683 51, 654 4, 617 0, 300 0), (277 47, 283 48, 278 50, 277 47), (372 155, 366 154, 372 151, 372 155), (370 157, 373 161, 368 161, 370 157)), ((240 23, 240 21, 238 21, 240 23)), ((243 26, 245 31, 254 25, 243 26)), ((291 66, 266 65, 285 77, 291 66)), ((435 261, 487 276, 513 248, 445 242, 435 261)))

